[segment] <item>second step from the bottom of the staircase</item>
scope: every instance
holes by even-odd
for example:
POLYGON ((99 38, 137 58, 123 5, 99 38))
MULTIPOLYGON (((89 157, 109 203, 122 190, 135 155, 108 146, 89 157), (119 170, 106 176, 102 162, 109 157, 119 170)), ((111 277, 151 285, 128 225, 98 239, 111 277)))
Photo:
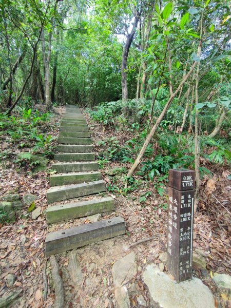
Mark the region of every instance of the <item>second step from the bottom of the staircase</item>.
POLYGON ((80 218, 114 210, 114 200, 111 197, 92 199, 49 206, 46 210, 47 223, 80 218))

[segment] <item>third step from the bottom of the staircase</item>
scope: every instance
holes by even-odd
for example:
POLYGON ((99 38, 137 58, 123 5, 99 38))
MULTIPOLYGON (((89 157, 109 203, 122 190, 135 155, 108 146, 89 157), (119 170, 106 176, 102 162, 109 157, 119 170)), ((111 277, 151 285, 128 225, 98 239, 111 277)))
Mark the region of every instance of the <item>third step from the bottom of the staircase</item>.
POLYGON ((105 182, 102 180, 89 183, 51 187, 47 190, 47 203, 98 194, 98 192, 103 192, 105 190, 105 182))

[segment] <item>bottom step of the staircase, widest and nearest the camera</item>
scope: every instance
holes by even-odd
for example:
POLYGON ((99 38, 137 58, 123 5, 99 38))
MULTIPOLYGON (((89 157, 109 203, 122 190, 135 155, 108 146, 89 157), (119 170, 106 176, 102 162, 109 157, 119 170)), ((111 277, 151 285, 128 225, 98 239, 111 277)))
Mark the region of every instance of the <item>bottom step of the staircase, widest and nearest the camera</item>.
POLYGON ((45 241, 46 257, 125 234, 121 217, 101 220, 82 226, 48 233, 45 241))

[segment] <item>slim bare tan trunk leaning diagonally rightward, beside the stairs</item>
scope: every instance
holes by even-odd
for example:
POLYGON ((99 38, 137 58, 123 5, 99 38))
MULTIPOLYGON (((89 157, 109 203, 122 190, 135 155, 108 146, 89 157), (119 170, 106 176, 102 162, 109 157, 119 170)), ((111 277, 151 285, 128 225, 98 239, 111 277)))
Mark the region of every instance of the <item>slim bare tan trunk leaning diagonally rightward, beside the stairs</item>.
MULTIPOLYGON (((155 125, 152 127, 151 131, 149 132, 147 139, 145 140, 142 149, 136 159, 136 161, 133 163, 131 169, 128 171, 127 174, 127 178, 132 177, 132 175, 134 174, 134 171, 137 169, 137 167, 139 166, 141 159, 144 156, 144 153, 147 149, 148 144, 150 143, 152 137, 154 136, 157 128, 159 127, 161 121, 163 120, 169 106, 171 105, 171 102, 175 99, 177 93, 180 91, 182 85, 186 82, 186 80, 188 79, 188 77, 190 76, 191 72, 194 70, 195 66, 196 66, 197 62, 194 62, 194 64, 192 64, 190 70, 188 71, 188 73, 184 76, 183 80, 181 81, 180 85, 178 86, 178 88, 176 89, 176 91, 171 95, 171 97, 169 98, 168 102, 166 103, 164 109, 162 110, 161 114, 159 115, 159 118, 157 119, 155 125)), ((125 187, 127 187, 127 182, 125 184, 125 187)))

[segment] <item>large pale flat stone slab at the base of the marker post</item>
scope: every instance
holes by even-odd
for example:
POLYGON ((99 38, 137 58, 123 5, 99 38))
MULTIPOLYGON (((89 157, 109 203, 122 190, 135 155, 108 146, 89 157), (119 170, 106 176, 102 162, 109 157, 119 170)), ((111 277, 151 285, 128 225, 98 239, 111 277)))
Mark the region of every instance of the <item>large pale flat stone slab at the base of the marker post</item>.
POLYGON ((198 278, 175 283, 156 265, 147 265, 143 280, 153 301, 162 308, 214 308, 213 294, 198 278))

